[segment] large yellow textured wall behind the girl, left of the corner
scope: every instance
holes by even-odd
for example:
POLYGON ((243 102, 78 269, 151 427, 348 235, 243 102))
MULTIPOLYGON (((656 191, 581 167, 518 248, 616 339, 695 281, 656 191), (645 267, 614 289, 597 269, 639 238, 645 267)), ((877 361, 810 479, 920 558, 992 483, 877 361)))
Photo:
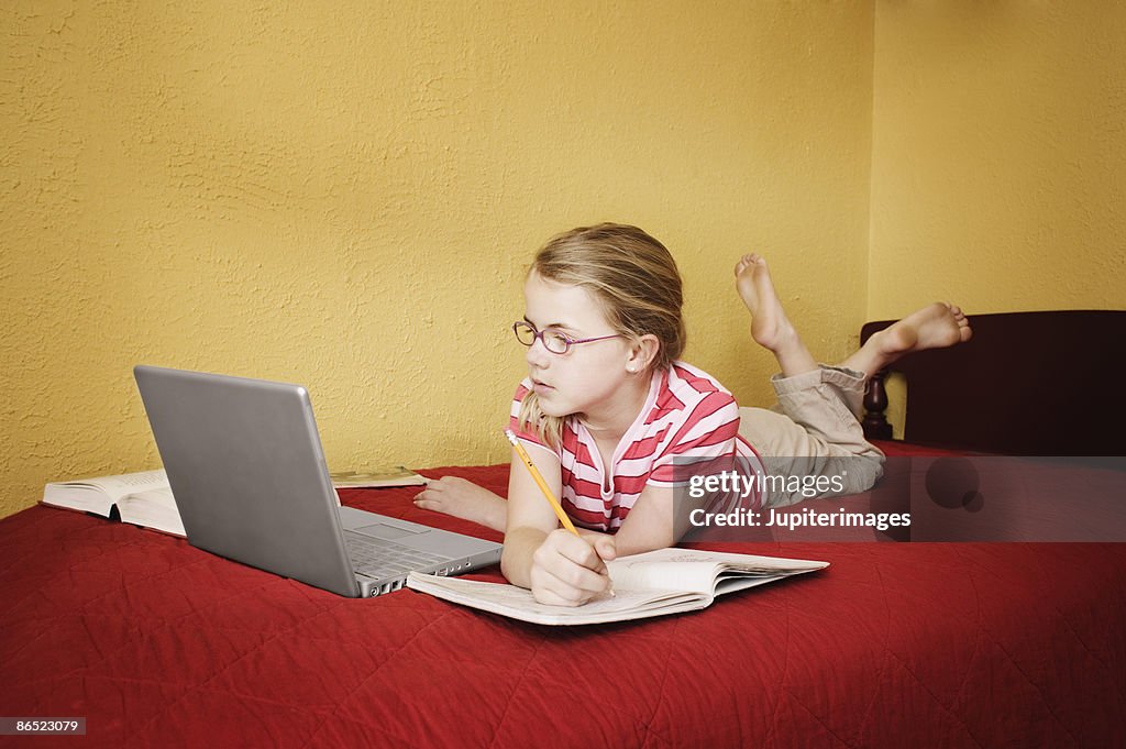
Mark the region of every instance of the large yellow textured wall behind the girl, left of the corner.
POLYGON ((506 461, 551 234, 665 241, 688 358, 767 399, 734 258, 865 319, 867 2, 0 8, 0 514, 158 463, 136 363, 301 382, 332 466, 506 461))

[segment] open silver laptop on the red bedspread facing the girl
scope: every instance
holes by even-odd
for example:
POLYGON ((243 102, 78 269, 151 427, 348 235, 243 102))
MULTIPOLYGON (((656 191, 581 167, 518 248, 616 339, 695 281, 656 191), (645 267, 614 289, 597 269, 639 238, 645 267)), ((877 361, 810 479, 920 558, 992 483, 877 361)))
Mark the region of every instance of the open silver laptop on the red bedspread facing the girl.
POLYGON ((133 373, 193 546, 350 597, 500 560, 491 541, 341 507, 304 387, 133 373))

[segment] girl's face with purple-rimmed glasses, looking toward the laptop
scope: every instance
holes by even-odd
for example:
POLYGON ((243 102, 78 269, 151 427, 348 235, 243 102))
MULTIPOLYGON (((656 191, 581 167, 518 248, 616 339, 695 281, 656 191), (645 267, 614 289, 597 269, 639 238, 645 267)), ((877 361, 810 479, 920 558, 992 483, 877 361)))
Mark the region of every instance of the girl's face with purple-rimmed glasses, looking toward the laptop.
MULTIPOLYGON (((557 330, 568 338, 617 333, 601 303, 586 288, 528 274, 524 285, 525 319, 536 330, 557 330)), ((627 338, 577 344, 566 354, 553 354, 536 340, 527 349, 528 374, 547 416, 584 414, 601 419, 618 411, 628 378, 632 346, 627 338), (617 395, 617 398, 615 398, 617 395)))

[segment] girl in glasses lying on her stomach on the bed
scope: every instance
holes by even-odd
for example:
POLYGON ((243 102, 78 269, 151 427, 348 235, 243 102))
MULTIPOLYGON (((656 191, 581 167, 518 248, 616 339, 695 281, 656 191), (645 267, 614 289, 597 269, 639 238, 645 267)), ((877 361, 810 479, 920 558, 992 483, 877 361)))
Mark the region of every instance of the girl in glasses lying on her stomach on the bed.
MULTIPOLYGON (((540 603, 577 606, 610 589, 604 560, 678 541, 674 460, 738 456, 761 471, 760 456, 847 456, 843 493, 869 489, 883 453, 864 439, 855 416, 867 377, 906 353, 967 340, 966 318, 932 304, 873 336, 840 367, 825 367, 786 318, 762 258, 743 256, 735 279, 752 338, 781 369, 772 377, 772 410, 740 409, 718 382, 678 359, 686 338, 681 280, 663 244, 618 224, 551 240, 533 261, 526 313, 513 324, 527 347, 528 377, 516 391, 510 428, 582 538, 558 527, 519 469, 510 473, 507 502, 447 476, 415 503, 503 529, 504 577, 540 603)), ((779 492, 753 501, 799 499, 779 492)))

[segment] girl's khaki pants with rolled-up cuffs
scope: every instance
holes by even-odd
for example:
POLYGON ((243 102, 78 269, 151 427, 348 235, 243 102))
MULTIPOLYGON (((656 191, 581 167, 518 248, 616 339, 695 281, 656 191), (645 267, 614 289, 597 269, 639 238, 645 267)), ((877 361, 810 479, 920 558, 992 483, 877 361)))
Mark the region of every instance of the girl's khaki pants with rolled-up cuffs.
POLYGON ((857 419, 865 376, 852 369, 822 365, 795 377, 770 378, 778 403, 772 409, 741 408, 739 434, 763 458, 768 475, 798 476, 802 490, 767 492, 763 507, 784 507, 805 499, 867 491, 884 472, 884 454, 864 438, 857 419), (828 491, 811 493, 815 479, 828 491))

